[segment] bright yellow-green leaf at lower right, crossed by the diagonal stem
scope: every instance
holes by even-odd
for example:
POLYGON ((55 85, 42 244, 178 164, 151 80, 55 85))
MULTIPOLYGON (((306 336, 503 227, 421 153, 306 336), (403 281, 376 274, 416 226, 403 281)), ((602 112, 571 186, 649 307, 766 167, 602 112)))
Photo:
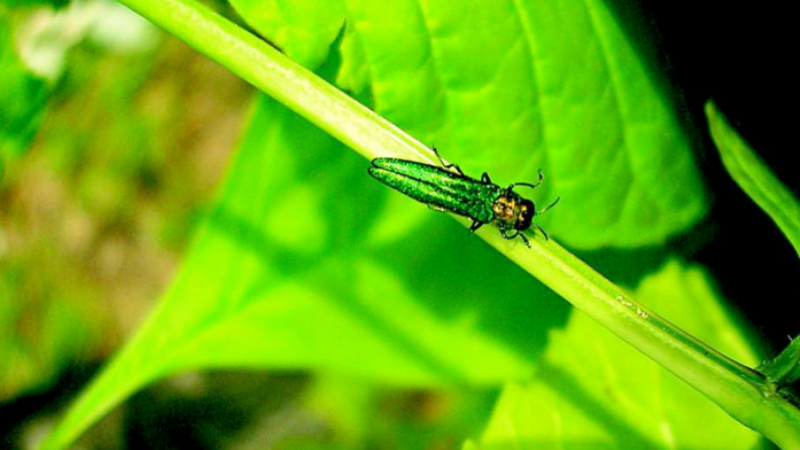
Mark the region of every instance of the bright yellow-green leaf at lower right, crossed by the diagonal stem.
MULTIPOLYGON (((636 295, 715 348, 757 360, 703 270, 671 261, 636 295)), ((474 448, 735 450, 757 441, 758 434, 576 312, 552 334, 534 379, 506 388, 474 448)))

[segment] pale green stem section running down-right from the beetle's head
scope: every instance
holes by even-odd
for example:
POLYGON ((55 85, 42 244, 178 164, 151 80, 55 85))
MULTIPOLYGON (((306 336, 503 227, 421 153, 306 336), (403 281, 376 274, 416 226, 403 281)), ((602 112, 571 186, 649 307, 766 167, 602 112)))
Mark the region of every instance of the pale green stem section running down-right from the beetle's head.
POLYGON ((638 304, 552 240, 531 248, 496 233, 482 236, 573 306, 700 391, 742 424, 783 449, 800 449, 800 411, 761 373, 700 342, 638 304))

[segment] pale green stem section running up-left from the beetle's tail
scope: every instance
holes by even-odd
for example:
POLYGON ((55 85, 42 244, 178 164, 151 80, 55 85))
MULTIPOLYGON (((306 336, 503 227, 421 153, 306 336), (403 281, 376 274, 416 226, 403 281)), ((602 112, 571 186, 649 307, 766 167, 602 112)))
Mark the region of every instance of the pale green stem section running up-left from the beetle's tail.
POLYGON ((394 124, 195 0, 119 0, 225 66, 331 136, 372 159, 377 150, 434 162, 433 154, 394 124))

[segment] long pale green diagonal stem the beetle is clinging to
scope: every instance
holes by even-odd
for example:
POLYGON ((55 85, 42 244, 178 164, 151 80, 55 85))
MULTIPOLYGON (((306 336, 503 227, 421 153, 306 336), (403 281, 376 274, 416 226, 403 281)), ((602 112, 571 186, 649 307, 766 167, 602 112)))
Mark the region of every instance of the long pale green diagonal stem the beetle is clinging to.
MULTIPOLYGON (((433 155, 423 144, 199 3, 120 2, 365 157, 373 158, 379 153, 433 161, 433 155)), ((784 449, 800 449, 800 411, 777 395, 763 375, 728 359, 639 305, 552 240, 534 239, 528 249, 503 240, 497 233, 479 234, 576 308, 689 383, 731 416, 784 449)))

